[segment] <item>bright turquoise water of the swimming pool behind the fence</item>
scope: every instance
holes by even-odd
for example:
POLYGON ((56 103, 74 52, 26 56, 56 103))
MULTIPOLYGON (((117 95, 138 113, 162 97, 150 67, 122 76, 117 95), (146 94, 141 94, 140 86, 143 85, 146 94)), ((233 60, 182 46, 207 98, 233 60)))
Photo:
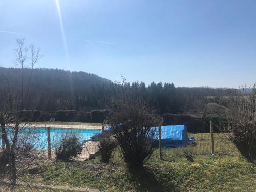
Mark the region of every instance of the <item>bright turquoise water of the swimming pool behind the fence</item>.
MULTIPOLYGON (((8 129, 7 129, 8 131, 8 129)), ((10 130, 11 131, 11 130, 10 130)), ((33 143, 35 148, 46 150, 47 149, 47 128, 36 127, 28 128, 20 132, 20 140, 18 142, 23 142, 23 140, 28 140, 33 143)), ((80 142, 85 139, 90 139, 93 135, 101 133, 100 129, 72 129, 72 128, 51 128, 51 145, 54 148, 63 134, 75 133, 79 136, 80 142)), ((10 137, 10 135, 9 135, 10 137)), ((12 137, 10 137, 12 138, 12 137)), ((1 139, 0 139, 1 140, 1 139)), ((0 142, 0 147, 2 147, 2 141, 0 142)))

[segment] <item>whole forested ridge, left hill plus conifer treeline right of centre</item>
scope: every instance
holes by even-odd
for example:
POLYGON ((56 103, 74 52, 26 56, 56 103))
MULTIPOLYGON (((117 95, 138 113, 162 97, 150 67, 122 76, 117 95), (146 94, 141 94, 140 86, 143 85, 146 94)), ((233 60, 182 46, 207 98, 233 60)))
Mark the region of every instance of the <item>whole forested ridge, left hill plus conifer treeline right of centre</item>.
MULTIPOLYGON (((0 108, 10 89, 20 92, 22 69, 0 67, 0 108)), ((136 79, 134 79, 136 80, 136 79)), ((141 97, 159 113, 186 113, 200 111, 204 104, 217 102, 225 105, 221 96, 236 94, 236 89, 175 87, 173 83, 155 83, 149 86, 134 82, 126 85, 136 97, 141 97), (200 109, 199 109, 200 108, 200 109)), ((106 105, 122 90, 121 84, 86 72, 70 72, 58 69, 24 69, 24 95, 29 93, 26 109, 40 111, 105 109, 106 105), (32 73, 31 73, 32 72, 32 73), (27 90, 31 75, 30 88, 27 90)), ((225 98, 225 97, 224 97, 225 98)))

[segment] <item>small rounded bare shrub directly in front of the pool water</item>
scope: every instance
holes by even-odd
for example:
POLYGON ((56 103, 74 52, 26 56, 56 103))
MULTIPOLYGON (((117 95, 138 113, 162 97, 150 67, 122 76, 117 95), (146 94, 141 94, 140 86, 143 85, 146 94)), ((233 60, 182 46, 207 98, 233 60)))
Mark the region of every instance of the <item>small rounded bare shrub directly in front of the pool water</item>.
POLYGON ((56 159, 72 160, 82 152, 81 138, 75 133, 64 133, 55 144, 56 159))

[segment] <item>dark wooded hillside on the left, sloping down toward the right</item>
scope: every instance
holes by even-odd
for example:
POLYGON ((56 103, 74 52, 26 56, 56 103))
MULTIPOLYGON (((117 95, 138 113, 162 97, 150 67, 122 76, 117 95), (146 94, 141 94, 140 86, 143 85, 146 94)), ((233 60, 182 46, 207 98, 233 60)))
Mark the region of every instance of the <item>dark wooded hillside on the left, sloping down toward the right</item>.
MULTIPOLYGON (((0 67, 0 94, 2 94, 2 97, 8 89, 4 74, 8 77, 12 91, 17 91, 21 87, 22 70, 20 68, 0 67)), ((30 74, 32 76, 28 109, 39 109, 42 111, 74 109, 76 108, 74 106, 76 100, 81 99, 78 98, 78 95, 82 95, 85 101, 91 103, 87 105, 88 111, 97 107, 100 108, 102 97, 95 90, 104 89, 104 87, 113 84, 108 79, 81 71, 70 72, 45 68, 37 68, 31 71, 31 69, 25 68, 25 93, 30 74)))

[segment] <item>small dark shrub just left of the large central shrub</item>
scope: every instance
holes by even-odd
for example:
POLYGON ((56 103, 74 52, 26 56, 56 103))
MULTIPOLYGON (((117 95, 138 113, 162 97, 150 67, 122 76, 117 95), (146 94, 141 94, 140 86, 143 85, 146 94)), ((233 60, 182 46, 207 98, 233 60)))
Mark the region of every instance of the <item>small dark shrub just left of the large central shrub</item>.
POLYGON ((100 135, 97 136, 99 141, 98 148, 100 154, 100 162, 109 163, 110 159, 113 157, 113 151, 117 147, 117 142, 113 138, 110 132, 103 131, 100 135))

